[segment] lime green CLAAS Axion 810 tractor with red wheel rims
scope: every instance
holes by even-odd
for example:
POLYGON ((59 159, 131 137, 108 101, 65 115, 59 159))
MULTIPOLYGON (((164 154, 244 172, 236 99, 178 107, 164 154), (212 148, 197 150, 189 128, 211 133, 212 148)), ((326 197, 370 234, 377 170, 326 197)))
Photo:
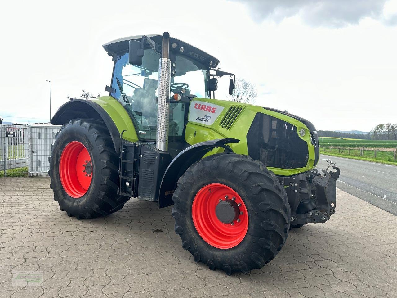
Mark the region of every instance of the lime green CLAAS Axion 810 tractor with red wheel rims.
POLYGON ((143 35, 103 45, 108 96, 71 99, 49 175, 60 210, 105 216, 131 197, 173 205, 194 260, 227 274, 272 260, 290 228, 335 213, 339 169, 318 172, 313 124, 273 108, 215 99, 219 60, 179 39, 143 35))

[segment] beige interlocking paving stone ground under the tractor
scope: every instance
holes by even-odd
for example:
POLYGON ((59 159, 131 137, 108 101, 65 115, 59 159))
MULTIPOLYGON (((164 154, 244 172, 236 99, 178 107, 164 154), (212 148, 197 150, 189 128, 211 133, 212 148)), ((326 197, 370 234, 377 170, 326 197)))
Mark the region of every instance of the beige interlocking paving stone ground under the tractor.
POLYGON ((77 220, 49 181, 0 178, 0 298, 397 297, 397 217, 341 190, 330 221, 291 230, 268 265, 227 276, 181 248, 170 208, 131 199, 77 220), (13 286, 17 271, 44 281, 13 286))

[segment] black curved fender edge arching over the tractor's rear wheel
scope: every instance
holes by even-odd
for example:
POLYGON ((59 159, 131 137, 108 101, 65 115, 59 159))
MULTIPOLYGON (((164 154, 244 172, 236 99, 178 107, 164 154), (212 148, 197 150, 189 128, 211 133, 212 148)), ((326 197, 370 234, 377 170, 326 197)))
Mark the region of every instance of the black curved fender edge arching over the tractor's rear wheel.
POLYGON ((103 121, 110 132, 114 150, 120 151, 120 133, 109 114, 97 103, 88 99, 73 99, 62 104, 51 119, 51 124, 62 125, 71 119, 91 118, 103 121))

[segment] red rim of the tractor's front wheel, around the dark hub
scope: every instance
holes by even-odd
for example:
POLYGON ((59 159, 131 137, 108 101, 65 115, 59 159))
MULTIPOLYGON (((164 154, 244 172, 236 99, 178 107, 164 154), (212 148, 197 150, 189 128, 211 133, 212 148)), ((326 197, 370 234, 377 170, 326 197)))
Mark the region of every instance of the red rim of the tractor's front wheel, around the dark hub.
POLYGON ((224 184, 208 184, 198 191, 193 200, 192 217, 201 238, 216 248, 233 248, 243 241, 247 234, 247 208, 237 192, 224 184), (215 208, 220 199, 232 199, 233 197, 236 203, 241 204, 238 219, 233 221, 233 224, 222 223, 216 216, 215 208))

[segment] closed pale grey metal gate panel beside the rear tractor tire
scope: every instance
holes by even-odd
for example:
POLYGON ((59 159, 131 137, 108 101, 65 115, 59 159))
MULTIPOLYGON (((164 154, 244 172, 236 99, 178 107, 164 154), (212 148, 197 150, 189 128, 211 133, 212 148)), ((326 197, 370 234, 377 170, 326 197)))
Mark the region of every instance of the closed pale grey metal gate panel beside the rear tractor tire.
POLYGON ((55 134, 61 126, 49 123, 35 123, 29 126, 29 177, 48 176, 51 156, 51 144, 55 141, 55 134))

